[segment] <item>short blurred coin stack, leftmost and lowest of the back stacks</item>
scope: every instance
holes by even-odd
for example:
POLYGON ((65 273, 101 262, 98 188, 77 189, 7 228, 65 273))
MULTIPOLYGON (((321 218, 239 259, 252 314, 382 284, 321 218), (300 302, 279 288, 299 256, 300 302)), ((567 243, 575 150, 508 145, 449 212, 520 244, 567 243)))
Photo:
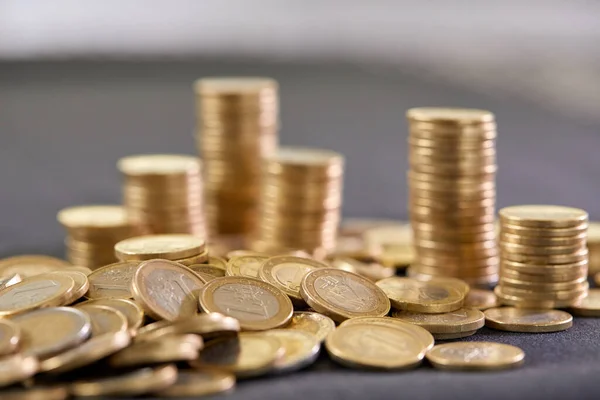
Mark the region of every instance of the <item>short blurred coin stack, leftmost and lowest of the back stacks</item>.
POLYGON ((115 243, 140 233, 121 206, 69 207, 61 210, 57 219, 67 231, 67 259, 90 269, 117 261, 115 243))

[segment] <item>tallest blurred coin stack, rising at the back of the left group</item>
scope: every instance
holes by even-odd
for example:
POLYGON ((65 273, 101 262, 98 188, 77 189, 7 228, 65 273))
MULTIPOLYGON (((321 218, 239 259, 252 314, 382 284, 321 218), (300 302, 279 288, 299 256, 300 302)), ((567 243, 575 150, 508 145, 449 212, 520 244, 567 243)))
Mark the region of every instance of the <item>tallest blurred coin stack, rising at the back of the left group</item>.
POLYGON ((204 78, 194 85, 211 235, 247 234, 256 225, 262 159, 278 145, 277 88, 268 78, 204 78))

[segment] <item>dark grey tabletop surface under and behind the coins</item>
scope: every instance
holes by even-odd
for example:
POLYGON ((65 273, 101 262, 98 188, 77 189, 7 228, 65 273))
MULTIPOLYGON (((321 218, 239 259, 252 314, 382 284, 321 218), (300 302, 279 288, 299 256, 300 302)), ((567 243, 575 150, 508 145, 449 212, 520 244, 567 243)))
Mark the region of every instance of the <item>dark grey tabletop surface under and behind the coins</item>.
MULTIPOLYGON (((0 64, 0 256, 61 256, 55 220, 65 206, 119 202, 115 162, 148 152, 193 154, 191 82, 204 75, 267 75, 282 92, 282 144, 347 157, 344 214, 406 218, 404 112, 420 105, 494 111, 499 125, 498 206, 546 203, 600 216, 598 124, 518 98, 454 87, 395 70, 260 63, 0 64)), ((501 333, 468 340, 522 347, 525 365, 493 373, 375 373, 326 357, 288 376, 240 383, 231 399, 521 399, 600 397, 600 319, 567 332, 501 333)))

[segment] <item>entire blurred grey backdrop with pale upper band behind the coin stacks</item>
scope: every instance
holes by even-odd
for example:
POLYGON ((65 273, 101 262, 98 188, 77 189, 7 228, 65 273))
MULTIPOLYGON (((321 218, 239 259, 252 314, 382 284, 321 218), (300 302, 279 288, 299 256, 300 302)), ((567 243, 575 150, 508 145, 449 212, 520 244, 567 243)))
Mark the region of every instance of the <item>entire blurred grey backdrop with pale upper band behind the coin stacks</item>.
POLYGON ((194 154, 192 82, 277 79, 281 143, 347 157, 344 215, 406 218, 404 113, 498 120, 498 206, 600 218, 600 3, 0 0, 0 253, 120 202, 118 158, 194 154))

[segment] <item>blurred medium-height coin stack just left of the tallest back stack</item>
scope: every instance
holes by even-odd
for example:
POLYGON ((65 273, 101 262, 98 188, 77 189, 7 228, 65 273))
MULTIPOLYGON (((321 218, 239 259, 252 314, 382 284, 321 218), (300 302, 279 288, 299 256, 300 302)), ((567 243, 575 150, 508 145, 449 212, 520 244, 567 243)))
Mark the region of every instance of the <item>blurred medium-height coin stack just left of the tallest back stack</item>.
POLYGON ((132 221, 144 233, 206 236, 200 160, 177 154, 125 157, 123 200, 132 221))

